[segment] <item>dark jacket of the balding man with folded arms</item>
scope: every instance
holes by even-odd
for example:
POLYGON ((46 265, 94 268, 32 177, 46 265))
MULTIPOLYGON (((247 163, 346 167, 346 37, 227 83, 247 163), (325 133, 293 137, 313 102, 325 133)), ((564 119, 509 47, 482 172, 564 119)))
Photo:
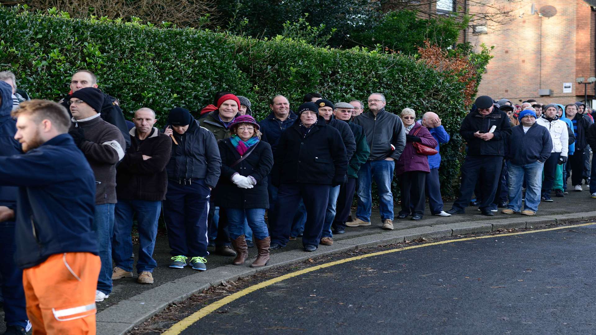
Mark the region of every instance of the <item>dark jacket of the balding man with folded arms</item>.
POLYGON ((172 153, 172 138, 153 128, 139 141, 136 128, 130 131, 131 147, 116 170, 118 200, 160 201, 166 196, 166 165, 172 153), (143 160, 143 155, 151 156, 143 160))

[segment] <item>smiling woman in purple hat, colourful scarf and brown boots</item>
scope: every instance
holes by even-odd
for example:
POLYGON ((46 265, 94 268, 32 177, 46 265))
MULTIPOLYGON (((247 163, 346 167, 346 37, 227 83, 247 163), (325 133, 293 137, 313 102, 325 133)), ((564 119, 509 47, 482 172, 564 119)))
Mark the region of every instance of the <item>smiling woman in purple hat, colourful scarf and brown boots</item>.
POLYGON ((236 250, 232 263, 243 265, 249 256, 244 238, 246 219, 259 252, 250 266, 265 266, 271 241, 265 224, 267 176, 273 167, 271 146, 260 141, 259 124, 250 115, 236 117, 229 128, 232 136, 219 141, 222 166, 215 202, 228 215, 229 235, 236 250))

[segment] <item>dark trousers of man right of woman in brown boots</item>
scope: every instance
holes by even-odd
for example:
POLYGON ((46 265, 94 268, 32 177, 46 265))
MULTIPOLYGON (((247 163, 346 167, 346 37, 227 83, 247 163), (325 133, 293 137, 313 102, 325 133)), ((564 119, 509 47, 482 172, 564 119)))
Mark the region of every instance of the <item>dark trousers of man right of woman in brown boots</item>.
POLYGON ((302 197, 306 207, 302 244, 318 246, 325 222, 330 187, 331 185, 321 184, 281 184, 277 194, 275 218, 269 224, 271 243, 283 247, 288 243, 296 207, 302 197))

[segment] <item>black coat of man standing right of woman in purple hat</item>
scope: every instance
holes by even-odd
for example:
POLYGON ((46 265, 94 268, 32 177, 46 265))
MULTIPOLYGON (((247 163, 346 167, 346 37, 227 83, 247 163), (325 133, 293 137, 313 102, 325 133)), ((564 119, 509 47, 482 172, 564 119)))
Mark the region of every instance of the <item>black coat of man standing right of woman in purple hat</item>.
POLYGON ((303 136, 301 124, 297 120, 281 134, 271 171, 273 184, 339 185, 346 181, 346 146, 337 129, 319 116, 303 136))

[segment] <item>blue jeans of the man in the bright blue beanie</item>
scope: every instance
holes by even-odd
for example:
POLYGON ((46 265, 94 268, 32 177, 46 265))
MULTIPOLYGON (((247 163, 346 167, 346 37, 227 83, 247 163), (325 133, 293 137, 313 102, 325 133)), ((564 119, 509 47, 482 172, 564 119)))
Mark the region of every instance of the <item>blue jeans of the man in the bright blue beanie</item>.
POLYGON ((525 177, 526 201, 524 201, 524 210, 538 211, 541 196, 540 190, 542 188, 542 168, 544 168, 544 163, 538 161, 525 165, 507 163, 507 187, 509 188, 508 209, 514 212, 520 212, 522 210, 522 181, 525 177))

